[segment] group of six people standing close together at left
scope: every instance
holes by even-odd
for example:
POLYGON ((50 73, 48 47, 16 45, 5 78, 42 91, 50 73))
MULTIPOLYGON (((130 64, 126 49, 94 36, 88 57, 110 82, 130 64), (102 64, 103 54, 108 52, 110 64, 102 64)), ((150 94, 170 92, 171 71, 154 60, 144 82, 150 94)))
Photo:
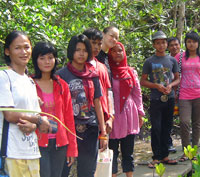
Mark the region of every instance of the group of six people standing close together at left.
POLYGON ((103 33, 87 29, 70 39, 69 62, 56 70, 57 51, 51 43, 41 41, 32 48, 26 33, 8 34, 0 107, 42 111, 62 122, 42 113, 1 112, 1 121, 9 122, 5 161, 9 176, 66 177, 77 158, 78 176, 93 177, 98 149, 108 147, 114 151, 116 176, 119 144, 123 171, 133 176, 134 136, 144 110, 137 72, 128 66, 118 39, 114 26, 103 33), (31 57, 34 73, 28 75, 31 57))

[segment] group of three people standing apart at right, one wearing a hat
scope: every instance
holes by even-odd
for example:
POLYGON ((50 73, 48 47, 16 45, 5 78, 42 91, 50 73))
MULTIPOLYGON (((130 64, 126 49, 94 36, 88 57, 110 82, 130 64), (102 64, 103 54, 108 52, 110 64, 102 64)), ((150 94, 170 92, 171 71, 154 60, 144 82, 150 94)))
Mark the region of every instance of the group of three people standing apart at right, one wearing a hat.
POLYGON ((179 105, 182 149, 191 141, 192 146, 198 146, 200 136, 200 36, 194 31, 186 33, 185 52, 181 50, 178 38, 167 39, 162 31, 154 33, 152 41, 155 55, 145 61, 141 77, 141 85, 151 89, 153 161, 149 168, 160 162, 175 165, 178 161, 188 160, 184 154, 178 160, 168 158, 169 152, 176 152, 170 137, 175 103, 179 105), (166 54, 167 48, 170 55, 166 54))

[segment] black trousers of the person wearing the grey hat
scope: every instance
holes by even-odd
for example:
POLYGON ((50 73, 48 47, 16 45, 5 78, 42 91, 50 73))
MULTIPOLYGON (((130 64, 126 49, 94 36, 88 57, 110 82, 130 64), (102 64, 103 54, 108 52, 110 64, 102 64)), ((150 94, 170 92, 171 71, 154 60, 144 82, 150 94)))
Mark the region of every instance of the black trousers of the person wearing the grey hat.
POLYGON ((151 147, 153 159, 168 157, 169 137, 173 123, 174 98, 163 103, 160 100, 150 102, 151 147))

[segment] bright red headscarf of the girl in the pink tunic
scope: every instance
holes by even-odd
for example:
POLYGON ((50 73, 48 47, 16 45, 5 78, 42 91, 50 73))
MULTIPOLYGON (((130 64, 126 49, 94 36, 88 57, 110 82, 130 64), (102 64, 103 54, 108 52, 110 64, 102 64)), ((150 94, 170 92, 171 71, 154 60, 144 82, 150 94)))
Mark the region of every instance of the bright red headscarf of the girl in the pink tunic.
POLYGON ((122 111, 126 99, 128 98, 132 88, 135 86, 135 76, 133 74, 133 68, 128 66, 125 48, 122 43, 117 42, 116 45, 120 45, 123 49, 124 59, 119 63, 113 61, 111 56, 111 50, 108 52, 108 62, 112 72, 112 77, 120 81, 120 112, 122 111))

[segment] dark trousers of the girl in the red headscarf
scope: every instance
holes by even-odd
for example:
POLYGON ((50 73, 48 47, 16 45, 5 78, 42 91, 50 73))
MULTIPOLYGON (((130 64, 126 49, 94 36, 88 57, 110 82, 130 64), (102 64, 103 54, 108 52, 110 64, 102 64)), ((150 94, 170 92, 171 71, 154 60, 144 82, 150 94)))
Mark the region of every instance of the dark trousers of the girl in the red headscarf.
POLYGON ((135 135, 128 135, 121 139, 109 139, 109 148, 113 150, 113 167, 112 174, 118 172, 117 158, 119 155, 119 144, 122 153, 122 169, 123 172, 134 171, 133 162, 133 149, 134 149, 134 138, 135 135))

